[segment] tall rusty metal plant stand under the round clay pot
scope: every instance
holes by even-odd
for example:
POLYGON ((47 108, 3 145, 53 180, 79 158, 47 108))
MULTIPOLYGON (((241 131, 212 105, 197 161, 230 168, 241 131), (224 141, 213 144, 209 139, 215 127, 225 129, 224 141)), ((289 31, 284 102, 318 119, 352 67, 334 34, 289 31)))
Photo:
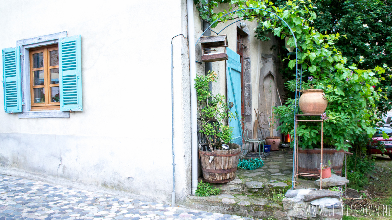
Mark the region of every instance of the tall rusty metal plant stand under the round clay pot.
POLYGON ((295 129, 295 133, 294 133, 294 155, 295 155, 295 159, 294 159, 294 177, 295 177, 295 181, 293 181, 293 188, 295 188, 295 183, 298 182, 298 175, 300 176, 304 176, 304 177, 319 177, 320 178, 320 189, 321 189, 321 185, 322 185, 322 175, 321 172, 323 169, 321 169, 323 167, 323 122, 324 120, 298 120, 298 116, 321 116, 321 115, 295 115, 295 120, 294 120, 294 128, 295 129), (311 174, 311 173, 298 173, 298 136, 297 136, 297 126, 298 126, 298 121, 320 121, 321 122, 321 161, 320 161, 320 175, 317 174, 311 174))

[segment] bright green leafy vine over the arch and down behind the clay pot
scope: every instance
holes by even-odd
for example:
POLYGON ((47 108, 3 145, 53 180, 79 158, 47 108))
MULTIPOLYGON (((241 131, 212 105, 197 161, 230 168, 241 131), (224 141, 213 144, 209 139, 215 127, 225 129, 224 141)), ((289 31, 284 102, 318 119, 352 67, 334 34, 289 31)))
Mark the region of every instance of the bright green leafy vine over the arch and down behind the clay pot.
MULTIPOLYGON (((285 39, 291 47, 295 41, 290 29, 273 14, 261 10, 244 10, 223 16, 229 11, 247 8, 260 8, 273 12, 283 18, 294 31, 298 46, 298 67, 302 67, 303 81, 314 79, 315 88, 324 89, 327 94, 328 108, 326 110, 326 123, 324 124, 325 146, 335 147, 338 150, 348 150, 357 135, 372 135, 377 119, 375 102, 380 98, 387 99, 386 88, 378 87, 380 81, 390 75, 386 74, 387 65, 377 66, 373 69, 362 69, 358 65, 366 59, 362 56, 356 63, 348 63, 336 47, 339 38, 346 37, 339 33, 320 33, 312 27, 317 15, 315 6, 310 0, 292 0, 276 7, 269 0, 194 0, 201 18, 211 22, 221 19, 222 22, 243 18, 244 20, 257 20, 256 37, 260 40, 269 40, 267 33, 285 39), (227 11, 215 12, 218 4, 230 3, 227 11)), ((214 23, 215 26, 217 23, 214 23)), ((287 63, 292 71, 296 65, 295 53, 281 56, 281 61, 287 63)), ((293 72, 295 74, 295 72, 293 72)), ((287 82, 288 90, 295 91, 296 81, 287 82)), ((289 99, 286 105, 275 109, 282 123, 278 128, 284 133, 293 134, 294 100, 289 99)), ((303 148, 319 146, 319 135, 316 135, 318 125, 304 124, 298 129, 303 148)))

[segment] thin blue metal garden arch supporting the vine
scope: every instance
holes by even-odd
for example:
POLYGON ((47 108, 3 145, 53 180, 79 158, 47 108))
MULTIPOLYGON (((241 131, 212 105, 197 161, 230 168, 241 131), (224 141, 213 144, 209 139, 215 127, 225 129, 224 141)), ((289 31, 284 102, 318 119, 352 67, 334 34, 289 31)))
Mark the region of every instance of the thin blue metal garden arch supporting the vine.
MULTIPOLYGON (((227 14, 224 14, 222 17, 225 17, 225 16, 227 16, 227 15, 229 15, 229 14, 232 14, 232 13, 236 13, 237 11, 241 11, 241 12, 243 12, 243 11, 246 11, 246 10, 252 10, 252 9, 254 9, 254 10, 260 10, 260 11, 266 11, 266 12, 268 12, 268 13, 270 13, 270 14, 273 14, 274 16, 276 16, 276 17, 278 17, 279 18, 279 20, 281 20, 283 23, 285 23, 285 25, 290 29, 290 32, 291 32, 291 34, 292 34, 292 36, 293 36, 293 38, 294 38, 294 43, 295 43, 295 69, 296 69, 296 87, 295 87, 295 89, 296 89, 296 92, 295 92, 295 101, 294 101, 294 118, 293 118, 293 121, 294 121, 294 124, 295 124, 295 115, 296 115, 296 112, 297 112, 297 99, 298 99, 298 97, 299 97, 299 95, 297 96, 297 91, 298 91, 298 47, 297 47, 297 39, 296 39, 296 37, 295 37, 295 34, 294 34, 294 32, 292 31, 292 29, 291 29, 291 27, 287 24, 287 22, 285 22, 285 20, 283 20, 283 18, 281 18, 281 17, 279 17, 277 14, 275 14, 275 13, 273 13, 273 12, 271 12, 271 11, 268 11, 268 10, 265 10, 265 9, 260 9, 260 8, 247 8, 247 9, 238 9, 238 10, 236 10, 236 11, 232 11, 232 12, 229 12, 229 13, 227 13, 227 14)), ((244 13, 244 16, 246 16, 245 15, 245 13, 244 13)), ((242 17, 244 17, 244 16, 242 16, 242 17)), ((213 31, 212 29, 211 29, 211 26, 212 25, 214 25, 214 23, 216 23, 216 22, 219 22, 221 20, 221 18, 218 18, 217 20, 215 20, 214 22, 212 22, 211 24, 210 24, 210 26, 209 27, 207 27, 207 29, 205 29, 204 31, 203 31, 203 33, 200 35, 200 37, 198 38, 198 40, 196 41, 196 43, 195 43, 195 47, 196 47, 196 45, 198 44, 198 42, 199 42, 199 40, 200 40, 200 38, 203 36, 203 34, 207 31, 207 30, 210 30, 210 31, 212 31, 212 32, 214 32, 215 34, 220 34, 224 29, 226 29, 227 27, 229 27, 230 25, 232 25, 232 24, 234 24, 234 23, 237 23, 237 22, 240 22, 240 21, 242 21, 242 20, 238 20, 238 21, 235 21, 235 22, 232 22, 232 23, 230 23, 229 25, 227 25, 226 27, 224 27, 221 31, 219 31, 219 32, 215 32, 215 31, 213 31)), ((301 67, 301 72, 300 72, 300 83, 299 83, 299 90, 301 90, 301 83, 302 83, 302 67, 301 67)), ((296 133, 296 126, 294 126, 294 133, 296 133)), ((296 139, 296 137, 294 136, 294 139, 296 139)), ((294 163, 295 163, 295 157, 296 157, 296 140, 294 140, 294 153, 293 153, 293 170, 292 170, 292 189, 294 189, 294 172, 295 172, 295 170, 294 170, 294 163)))

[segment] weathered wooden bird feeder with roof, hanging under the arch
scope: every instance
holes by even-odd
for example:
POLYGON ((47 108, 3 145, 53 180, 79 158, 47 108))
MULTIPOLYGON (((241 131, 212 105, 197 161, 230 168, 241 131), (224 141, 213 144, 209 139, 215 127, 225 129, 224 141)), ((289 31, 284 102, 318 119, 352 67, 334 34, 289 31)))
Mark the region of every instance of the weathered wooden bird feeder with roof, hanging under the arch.
POLYGON ((203 55, 201 61, 215 62, 221 60, 229 60, 226 54, 227 43, 226 35, 205 36, 200 38, 201 50, 203 55))

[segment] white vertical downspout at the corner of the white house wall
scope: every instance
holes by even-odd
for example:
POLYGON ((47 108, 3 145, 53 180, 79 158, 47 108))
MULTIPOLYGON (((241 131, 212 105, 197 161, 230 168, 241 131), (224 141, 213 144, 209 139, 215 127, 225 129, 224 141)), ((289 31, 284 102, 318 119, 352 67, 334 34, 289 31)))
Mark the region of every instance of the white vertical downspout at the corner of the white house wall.
POLYGON ((194 88, 196 78, 196 53, 195 53, 195 33, 193 21, 193 1, 187 0, 188 17, 188 43, 189 43, 189 75, 191 77, 191 152, 192 152, 192 195, 197 189, 197 108, 196 89, 194 88))

